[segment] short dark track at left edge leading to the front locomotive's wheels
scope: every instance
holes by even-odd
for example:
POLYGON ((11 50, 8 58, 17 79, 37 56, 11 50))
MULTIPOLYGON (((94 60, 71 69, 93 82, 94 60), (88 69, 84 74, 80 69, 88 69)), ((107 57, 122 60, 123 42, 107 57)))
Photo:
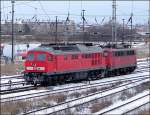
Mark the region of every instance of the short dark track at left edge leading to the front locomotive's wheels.
POLYGON ((28 90, 32 90, 32 89, 36 89, 36 87, 34 87, 34 86, 25 86, 25 87, 13 88, 13 89, 9 89, 9 90, 1 90, 0 95, 23 92, 23 91, 28 91, 28 90))

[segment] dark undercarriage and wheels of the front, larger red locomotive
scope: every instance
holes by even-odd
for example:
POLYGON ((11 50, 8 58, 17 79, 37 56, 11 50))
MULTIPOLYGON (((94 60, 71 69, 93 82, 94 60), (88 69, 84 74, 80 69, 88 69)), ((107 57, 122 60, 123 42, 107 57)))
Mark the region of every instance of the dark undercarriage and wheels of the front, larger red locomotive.
POLYGON ((62 74, 48 75, 46 73, 24 73, 24 78, 27 84, 41 84, 41 85, 55 85, 63 84, 68 82, 78 82, 81 80, 94 80, 103 77, 103 69, 100 70, 90 70, 90 71, 80 71, 80 72, 70 72, 62 74))

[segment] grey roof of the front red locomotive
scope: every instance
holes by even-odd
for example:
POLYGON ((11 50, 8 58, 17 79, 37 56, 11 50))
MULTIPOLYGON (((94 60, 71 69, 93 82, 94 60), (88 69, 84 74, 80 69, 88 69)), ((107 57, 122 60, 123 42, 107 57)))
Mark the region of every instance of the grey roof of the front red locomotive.
POLYGON ((47 51, 53 54, 94 53, 94 52, 102 52, 102 48, 97 46, 86 46, 76 44, 63 46, 62 45, 40 46, 30 51, 47 51))

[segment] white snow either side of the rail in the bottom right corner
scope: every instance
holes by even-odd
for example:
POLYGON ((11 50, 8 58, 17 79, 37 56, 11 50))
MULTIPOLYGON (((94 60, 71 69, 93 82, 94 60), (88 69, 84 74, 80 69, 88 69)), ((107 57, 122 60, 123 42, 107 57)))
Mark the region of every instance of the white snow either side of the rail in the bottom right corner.
MULTIPOLYGON (((125 101, 118 100, 115 104, 113 104, 113 105, 111 105, 111 106, 109 106, 109 107, 107 107, 107 108, 105 108, 105 109, 102 109, 101 111, 96 112, 95 114, 102 114, 102 113, 104 113, 104 112, 106 112, 106 111, 109 111, 109 110, 111 110, 111 109, 113 109, 113 108, 115 108, 115 107, 117 107, 117 106, 123 105, 123 104, 125 104, 125 103, 128 103, 128 102, 130 102, 130 101, 133 101, 133 100, 135 100, 135 99, 137 99, 137 98, 140 98, 140 97, 142 97, 142 96, 144 96, 144 95, 147 95, 147 94, 150 94, 149 90, 143 91, 142 93, 137 94, 136 96, 131 97, 131 98, 125 100, 125 101)), ((148 95, 148 96, 146 96, 145 98, 142 98, 142 99, 140 99, 140 100, 137 100, 137 101, 135 101, 135 102, 133 102, 133 103, 130 103, 130 104, 126 105, 126 106, 122 106, 122 107, 120 107, 120 108, 118 108, 118 109, 114 109, 114 110, 112 110, 112 111, 110 111, 110 112, 106 112, 105 114, 108 114, 108 115, 110 115, 110 114, 123 114, 123 113, 125 113, 126 111, 129 111, 129 110, 131 110, 131 109, 133 109, 133 108, 136 108, 136 107, 138 107, 138 106, 140 106, 140 105, 142 105, 142 104, 144 104, 144 103, 147 103, 147 102, 149 102, 149 101, 150 101, 150 100, 149 100, 149 95, 148 95)))

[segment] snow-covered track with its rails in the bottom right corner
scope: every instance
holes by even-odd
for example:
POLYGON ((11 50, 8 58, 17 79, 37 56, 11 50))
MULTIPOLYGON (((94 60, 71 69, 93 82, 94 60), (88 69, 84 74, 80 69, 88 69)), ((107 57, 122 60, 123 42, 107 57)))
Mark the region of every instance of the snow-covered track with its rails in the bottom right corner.
POLYGON ((107 110, 103 110, 102 112, 97 112, 96 114, 127 114, 141 106, 150 103, 149 96, 149 91, 146 93, 144 92, 141 96, 132 97, 131 99, 128 99, 116 106, 110 107, 107 110))

